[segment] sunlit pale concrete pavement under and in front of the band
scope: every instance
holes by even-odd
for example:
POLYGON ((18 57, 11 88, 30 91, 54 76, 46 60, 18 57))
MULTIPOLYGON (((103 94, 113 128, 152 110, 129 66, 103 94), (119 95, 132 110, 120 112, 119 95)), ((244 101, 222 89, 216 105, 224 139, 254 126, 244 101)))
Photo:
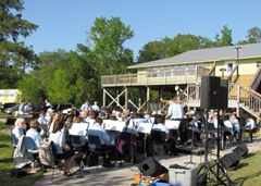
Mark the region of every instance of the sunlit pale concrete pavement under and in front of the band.
MULTIPOLYGON (((243 142, 245 144, 245 142, 243 142)), ((261 141, 259 135, 256 136, 256 139, 252 144, 246 144, 249 152, 254 153, 261 149, 261 141)), ((223 157, 226 153, 232 152, 235 147, 238 145, 228 145, 226 150, 220 151, 220 157, 223 157)), ((183 165, 186 162, 196 163, 196 166, 199 163, 204 162, 204 156, 190 156, 190 154, 182 154, 179 153, 178 157, 170 157, 163 154, 163 151, 160 151, 159 156, 153 157, 160 164, 164 165, 169 169, 171 164, 178 164, 183 165)), ((208 160, 215 160, 216 154, 215 150, 212 150, 211 153, 208 156, 208 160)), ((134 183, 135 174, 139 174, 140 171, 137 168, 139 164, 132 164, 132 163, 123 163, 123 166, 115 166, 115 168, 102 168, 102 166, 85 166, 84 177, 79 178, 76 174, 73 177, 65 177, 60 173, 58 170, 54 172, 53 182, 51 182, 51 171, 44 174, 42 178, 35 183, 34 186, 47 186, 47 185, 88 185, 88 186, 130 186, 134 183)), ((78 166, 74 166, 73 170, 76 171, 78 166)))

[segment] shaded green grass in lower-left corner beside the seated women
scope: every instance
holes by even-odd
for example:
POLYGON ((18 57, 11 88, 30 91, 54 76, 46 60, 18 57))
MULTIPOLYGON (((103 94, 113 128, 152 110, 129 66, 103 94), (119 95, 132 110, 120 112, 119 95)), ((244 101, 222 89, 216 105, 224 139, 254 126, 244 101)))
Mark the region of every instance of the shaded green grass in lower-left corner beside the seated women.
MULTIPOLYGON (((5 126, 5 123, 0 122, 0 128, 10 127, 5 126)), ((13 146, 11 142, 11 136, 3 132, 0 132, 0 185, 7 186, 28 186, 33 185, 41 175, 40 172, 27 175, 21 178, 11 177, 10 172, 14 169, 12 159, 13 146)), ((24 169, 25 171, 28 170, 24 169)))

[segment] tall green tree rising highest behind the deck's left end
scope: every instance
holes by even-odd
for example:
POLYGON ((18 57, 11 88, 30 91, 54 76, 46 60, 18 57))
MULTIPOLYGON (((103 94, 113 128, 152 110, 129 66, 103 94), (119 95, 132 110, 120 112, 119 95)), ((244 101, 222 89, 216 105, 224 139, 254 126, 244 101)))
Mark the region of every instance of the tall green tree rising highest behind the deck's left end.
POLYGON ((94 44, 94 66, 101 75, 124 73, 126 65, 133 63, 133 51, 124 48, 134 32, 125 26, 120 17, 96 18, 90 28, 89 39, 94 44))

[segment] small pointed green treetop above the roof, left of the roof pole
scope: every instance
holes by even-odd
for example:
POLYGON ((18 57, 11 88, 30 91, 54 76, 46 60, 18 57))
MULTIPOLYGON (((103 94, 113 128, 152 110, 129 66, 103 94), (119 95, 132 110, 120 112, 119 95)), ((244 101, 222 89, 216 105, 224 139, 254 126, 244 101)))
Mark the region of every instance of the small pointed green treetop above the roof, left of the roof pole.
POLYGON ((215 35, 216 47, 233 46, 232 44, 232 29, 227 25, 223 26, 221 30, 221 37, 219 34, 215 35))

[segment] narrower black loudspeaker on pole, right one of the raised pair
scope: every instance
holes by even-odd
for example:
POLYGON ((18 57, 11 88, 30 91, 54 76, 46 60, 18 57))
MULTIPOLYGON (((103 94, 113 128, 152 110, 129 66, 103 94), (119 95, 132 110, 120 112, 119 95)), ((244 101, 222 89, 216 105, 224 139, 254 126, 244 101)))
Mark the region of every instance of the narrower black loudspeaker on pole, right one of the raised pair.
POLYGON ((220 107, 219 109, 227 110, 227 103, 228 103, 228 80, 222 79, 221 86, 220 86, 220 107))

